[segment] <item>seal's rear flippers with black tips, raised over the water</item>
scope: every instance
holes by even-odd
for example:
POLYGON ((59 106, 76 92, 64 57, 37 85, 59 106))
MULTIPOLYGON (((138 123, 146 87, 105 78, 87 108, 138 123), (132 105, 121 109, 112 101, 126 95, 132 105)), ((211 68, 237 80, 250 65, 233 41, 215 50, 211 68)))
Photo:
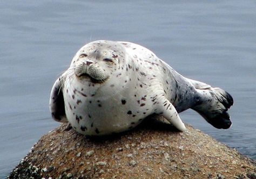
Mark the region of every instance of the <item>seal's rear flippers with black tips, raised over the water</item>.
MULTIPOLYGON (((201 87, 199 85, 199 87, 201 87)), ((192 109, 216 128, 230 128, 232 122, 227 110, 233 105, 233 98, 220 88, 198 88, 199 101, 192 109)))

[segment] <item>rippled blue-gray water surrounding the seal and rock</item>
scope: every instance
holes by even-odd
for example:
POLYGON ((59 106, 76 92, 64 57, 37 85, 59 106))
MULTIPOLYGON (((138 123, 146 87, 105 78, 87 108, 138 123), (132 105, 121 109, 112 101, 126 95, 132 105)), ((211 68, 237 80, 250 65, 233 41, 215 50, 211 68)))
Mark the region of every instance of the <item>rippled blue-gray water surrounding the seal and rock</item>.
POLYGON ((186 123, 256 159, 255 1, 1 1, 0 178, 59 124, 53 82, 92 40, 136 42, 186 77, 234 97, 232 128, 217 130, 192 110, 186 123))

